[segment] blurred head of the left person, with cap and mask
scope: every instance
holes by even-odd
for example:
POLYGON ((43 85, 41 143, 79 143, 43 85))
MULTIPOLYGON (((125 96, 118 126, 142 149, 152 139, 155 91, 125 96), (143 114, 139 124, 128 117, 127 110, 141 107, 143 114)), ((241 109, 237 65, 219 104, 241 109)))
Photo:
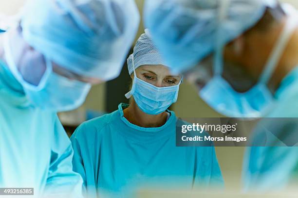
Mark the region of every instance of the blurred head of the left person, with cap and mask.
POLYGON ((138 23, 133 0, 29 0, 5 33, 6 63, 30 104, 73 110, 119 75, 138 23))

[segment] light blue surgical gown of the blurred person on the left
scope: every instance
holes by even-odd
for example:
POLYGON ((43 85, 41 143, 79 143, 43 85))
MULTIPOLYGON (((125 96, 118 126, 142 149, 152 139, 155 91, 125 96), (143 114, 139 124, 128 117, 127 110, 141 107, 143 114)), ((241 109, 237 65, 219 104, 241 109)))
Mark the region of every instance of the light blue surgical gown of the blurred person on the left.
POLYGON ((34 188, 34 197, 81 197, 82 179, 72 170, 72 157, 57 115, 32 106, 0 62, 0 187, 34 188))

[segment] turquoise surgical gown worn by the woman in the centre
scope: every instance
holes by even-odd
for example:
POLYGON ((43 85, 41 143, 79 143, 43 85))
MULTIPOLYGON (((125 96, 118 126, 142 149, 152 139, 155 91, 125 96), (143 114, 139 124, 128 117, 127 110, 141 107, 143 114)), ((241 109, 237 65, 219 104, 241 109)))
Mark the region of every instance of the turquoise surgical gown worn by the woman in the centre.
POLYGON ((127 107, 120 104, 117 111, 84 122, 71 137, 74 170, 87 195, 133 197, 138 187, 223 184, 214 147, 175 146, 174 112, 163 126, 143 128, 124 117, 127 107))

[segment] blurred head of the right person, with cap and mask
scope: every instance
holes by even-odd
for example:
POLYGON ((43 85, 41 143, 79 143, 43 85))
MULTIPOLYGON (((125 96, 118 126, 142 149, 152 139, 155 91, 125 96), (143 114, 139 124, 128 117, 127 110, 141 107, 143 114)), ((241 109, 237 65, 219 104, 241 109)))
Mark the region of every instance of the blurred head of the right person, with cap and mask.
POLYGON ((297 11, 277 0, 148 0, 145 8, 166 64, 186 72, 209 106, 230 117, 270 112, 297 11))

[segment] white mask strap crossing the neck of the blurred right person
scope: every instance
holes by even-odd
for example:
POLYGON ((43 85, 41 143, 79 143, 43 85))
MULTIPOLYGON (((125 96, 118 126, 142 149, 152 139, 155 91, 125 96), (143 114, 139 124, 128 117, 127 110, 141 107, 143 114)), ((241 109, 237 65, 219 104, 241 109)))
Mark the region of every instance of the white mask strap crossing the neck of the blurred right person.
POLYGON ((271 55, 264 67, 264 70, 261 74, 259 82, 267 84, 270 78, 273 75, 276 67, 278 66, 279 60, 290 41, 291 36, 295 32, 297 27, 297 19, 293 16, 287 19, 285 27, 282 30, 282 33, 279 36, 279 40, 277 41, 274 49, 272 50, 271 55))

